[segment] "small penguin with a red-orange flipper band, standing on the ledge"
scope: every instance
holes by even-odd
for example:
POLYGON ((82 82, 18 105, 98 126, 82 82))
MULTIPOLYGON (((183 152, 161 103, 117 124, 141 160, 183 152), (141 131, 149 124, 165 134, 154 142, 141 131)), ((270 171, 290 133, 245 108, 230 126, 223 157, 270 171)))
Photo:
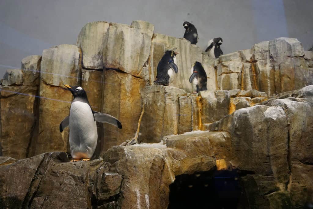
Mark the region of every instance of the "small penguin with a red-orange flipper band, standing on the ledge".
POLYGON ((192 91, 198 93, 207 89, 207 74, 200 62, 196 61, 191 67, 191 76, 189 82, 192 84, 192 91))

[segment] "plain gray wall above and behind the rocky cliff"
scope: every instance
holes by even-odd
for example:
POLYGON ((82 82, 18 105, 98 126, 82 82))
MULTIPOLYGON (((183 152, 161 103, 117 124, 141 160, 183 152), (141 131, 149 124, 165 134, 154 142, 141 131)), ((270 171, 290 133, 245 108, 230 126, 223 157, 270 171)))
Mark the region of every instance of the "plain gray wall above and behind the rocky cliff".
POLYGON ((193 23, 203 50, 222 37, 224 54, 249 49, 277 37, 313 45, 313 0, 1 0, 0 77, 20 68, 28 55, 59 44, 75 44, 88 22, 131 24, 145 20, 155 33, 182 37, 184 21, 193 23))

